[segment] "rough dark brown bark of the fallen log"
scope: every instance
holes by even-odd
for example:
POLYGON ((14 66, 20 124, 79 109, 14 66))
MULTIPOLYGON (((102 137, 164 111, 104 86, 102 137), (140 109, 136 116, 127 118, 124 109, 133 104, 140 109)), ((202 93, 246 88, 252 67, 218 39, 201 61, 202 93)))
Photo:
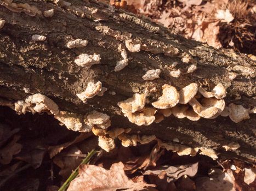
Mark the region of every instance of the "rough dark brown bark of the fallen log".
POLYGON ((50 1, 19 0, 13 3, 18 3, 16 8, 7 0, 0 1, 0 18, 5 20, 0 29, 2 98, 15 102, 42 93, 53 99, 60 110, 77 114, 92 110, 104 112, 111 116, 111 127, 130 127, 131 134, 156 135, 166 141, 178 138, 191 147, 214 148, 220 157, 255 162, 255 115, 240 123, 234 123, 228 117, 201 118, 192 122, 170 116, 161 123, 136 126, 117 106, 117 102, 132 97, 135 92, 143 92, 146 87, 157 88, 157 92, 149 97, 151 103, 161 96, 161 87, 165 83, 181 89, 196 82, 209 89, 223 83, 227 87, 224 98, 227 105, 234 103, 252 108, 256 105, 255 63, 247 56, 187 40, 148 19, 139 19, 122 9, 113 12, 106 4, 96 1, 74 0, 66 7, 50 1), (49 9, 54 9, 54 15, 44 17, 43 11, 49 9), (99 26, 114 31, 106 34, 96 29, 99 26), (32 41, 33 34, 44 35, 47 39, 32 41), (66 43, 77 38, 87 39, 88 45, 67 49, 66 43), (122 59, 118 46, 128 38, 139 39, 141 50, 127 50, 129 64, 115 72, 116 61, 122 59), (100 64, 89 69, 79 67, 74 60, 81 53, 100 54, 100 64), (180 77, 169 75, 173 62, 178 62, 176 68, 182 71, 180 77), (187 67, 193 62, 197 62, 197 69, 187 74, 187 67), (145 68, 160 68, 160 78, 144 80, 145 68), (230 78, 230 71, 237 74, 234 80, 230 78), (84 91, 89 81, 101 81, 108 90, 103 97, 95 96, 84 104, 76 94, 84 91), (116 95, 108 93, 111 91, 116 95), (237 93, 241 99, 235 99, 237 93), (241 145, 238 150, 225 152, 221 148, 233 141, 241 145))

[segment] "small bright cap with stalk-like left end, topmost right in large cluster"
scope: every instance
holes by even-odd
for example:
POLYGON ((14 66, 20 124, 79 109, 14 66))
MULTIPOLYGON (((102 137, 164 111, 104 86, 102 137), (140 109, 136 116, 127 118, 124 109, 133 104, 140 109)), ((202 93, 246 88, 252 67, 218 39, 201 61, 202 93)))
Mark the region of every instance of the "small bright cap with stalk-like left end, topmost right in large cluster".
POLYGON ((222 99, 222 98, 226 97, 226 89, 225 89, 225 87, 221 83, 218 83, 213 88, 212 92, 207 92, 202 87, 198 87, 198 92, 200 92, 202 94, 202 96, 205 97, 205 98, 215 97, 217 99, 222 99))

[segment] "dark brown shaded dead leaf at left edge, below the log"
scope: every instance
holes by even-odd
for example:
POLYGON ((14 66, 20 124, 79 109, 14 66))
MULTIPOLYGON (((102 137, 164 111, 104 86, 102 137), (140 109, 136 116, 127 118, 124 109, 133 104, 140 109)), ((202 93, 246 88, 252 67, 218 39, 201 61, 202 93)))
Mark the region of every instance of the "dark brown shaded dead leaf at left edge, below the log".
POLYGON ((13 156, 21 151, 22 145, 17 143, 19 139, 20 135, 14 135, 13 140, 0 150, 1 164, 9 164, 13 156))

